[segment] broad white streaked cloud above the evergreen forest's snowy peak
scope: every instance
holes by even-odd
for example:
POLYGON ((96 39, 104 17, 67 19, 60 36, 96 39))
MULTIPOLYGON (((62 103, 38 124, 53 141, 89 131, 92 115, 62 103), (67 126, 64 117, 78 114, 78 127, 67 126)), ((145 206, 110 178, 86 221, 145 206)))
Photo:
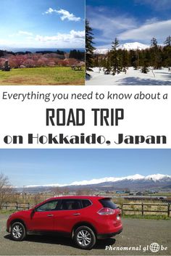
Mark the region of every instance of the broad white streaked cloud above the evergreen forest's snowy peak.
POLYGON ((121 40, 151 40, 155 37, 158 41, 164 41, 164 38, 170 35, 171 20, 164 20, 150 24, 141 25, 139 28, 127 30, 120 33, 121 40))

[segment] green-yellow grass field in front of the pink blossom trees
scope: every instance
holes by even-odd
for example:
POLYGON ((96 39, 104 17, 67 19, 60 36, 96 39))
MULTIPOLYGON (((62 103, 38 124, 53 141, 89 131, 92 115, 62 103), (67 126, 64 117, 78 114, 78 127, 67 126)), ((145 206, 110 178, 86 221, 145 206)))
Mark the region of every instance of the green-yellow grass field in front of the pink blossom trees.
POLYGON ((70 67, 33 67, 0 70, 0 85, 84 85, 85 70, 75 71, 70 67))

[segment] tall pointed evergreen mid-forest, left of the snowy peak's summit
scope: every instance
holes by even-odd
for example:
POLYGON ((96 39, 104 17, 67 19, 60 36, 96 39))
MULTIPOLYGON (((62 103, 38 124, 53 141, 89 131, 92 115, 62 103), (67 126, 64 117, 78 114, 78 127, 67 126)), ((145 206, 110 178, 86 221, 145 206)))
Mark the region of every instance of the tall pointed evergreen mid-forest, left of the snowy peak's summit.
POLYGON ((115 75, 116 73, 119 74, 122 71, 121 56, 117 51, 117 47, 119 45, 120 44, 118 39, 115 38, 114 42, 112 42, 112 50, 111 50, 112 75, 115 75))

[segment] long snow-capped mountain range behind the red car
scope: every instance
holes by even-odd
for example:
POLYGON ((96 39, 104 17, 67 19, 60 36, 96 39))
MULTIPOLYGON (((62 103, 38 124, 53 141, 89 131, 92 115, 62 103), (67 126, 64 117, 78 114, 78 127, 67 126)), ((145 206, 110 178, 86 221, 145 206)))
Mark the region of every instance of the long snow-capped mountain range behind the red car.
POLYGON ((99 179, 92 179, 90 181, 75 181, 70 184, 49 184, 49 185, 36 185, 36 186, 26 186, 27 188, 30 187, 54 187, 54 186, 89 186, 89 185, 100 185, 104 183, 113 183, 114 184, 123 184, 123 183, 171 183, 171 176, 169 175, 164 175, 164 174, 154 174, 154 175, 149 175, 149 176, 141 176, 139 174, 135 174, 134 176, 126 176, 126 177, 120 177, 120 178, 115 178, 115 177, 106 177, 106 178, 99 178, 99 179))

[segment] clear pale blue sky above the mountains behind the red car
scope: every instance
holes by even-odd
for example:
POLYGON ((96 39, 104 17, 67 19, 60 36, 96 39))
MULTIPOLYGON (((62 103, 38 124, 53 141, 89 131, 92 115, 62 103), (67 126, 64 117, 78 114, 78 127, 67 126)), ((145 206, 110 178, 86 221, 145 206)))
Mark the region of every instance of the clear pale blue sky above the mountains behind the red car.
POLYGON ((0 172, 14 186, 171 175, 170 155, 171 149, 0 149, 0 172))

